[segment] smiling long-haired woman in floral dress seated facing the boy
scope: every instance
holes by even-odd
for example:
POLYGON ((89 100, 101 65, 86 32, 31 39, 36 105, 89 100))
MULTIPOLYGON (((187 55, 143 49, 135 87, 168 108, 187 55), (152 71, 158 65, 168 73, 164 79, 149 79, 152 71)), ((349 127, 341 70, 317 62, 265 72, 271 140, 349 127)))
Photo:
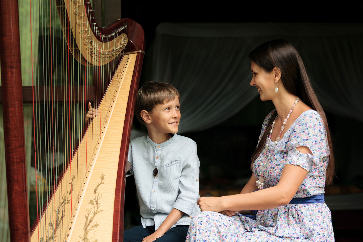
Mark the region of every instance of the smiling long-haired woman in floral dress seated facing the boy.
POLYGON ((334 176, 333 149, 301 57, 289 42, 273 40, 249 58, 250 85, 276 110, 262 124, 249 182, 240 194, 201 197, 201 211, 211 212, 193 218, 186 241, 334 241, 323 197, 334 176), (257 210, 256 218, 241 210, 257 210))

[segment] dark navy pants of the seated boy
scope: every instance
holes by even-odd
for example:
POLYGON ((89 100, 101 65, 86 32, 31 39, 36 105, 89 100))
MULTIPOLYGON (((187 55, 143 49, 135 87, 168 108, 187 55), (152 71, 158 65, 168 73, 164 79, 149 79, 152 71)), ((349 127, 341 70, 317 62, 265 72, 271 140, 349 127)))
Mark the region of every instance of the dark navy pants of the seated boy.
MULTIPOLYGON (((184 242, 187 237, 188 225, 177 225, 172 227, 166 233, 155 239, 155 242, 184 242)), ((142 239, 148 237, 150 234, 155 232, 155 226, 147 226, 145 229, 140 223, 138 226, 132 227, 131 229, 123 232, 124 242, 142 242, 142 239)))

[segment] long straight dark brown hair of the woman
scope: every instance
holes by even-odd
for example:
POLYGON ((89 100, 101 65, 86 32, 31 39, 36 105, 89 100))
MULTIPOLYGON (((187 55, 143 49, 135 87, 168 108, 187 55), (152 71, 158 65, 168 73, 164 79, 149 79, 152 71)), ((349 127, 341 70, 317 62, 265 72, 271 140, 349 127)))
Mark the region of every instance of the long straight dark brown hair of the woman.
MULTIPOLYGON (((252 50, 248 57, 256 63, 258 66, 263 68, 266 72, 270 73, 274 67, 281 70, 281 81, 287 92, 293 94, 301 99, 307 106, 313 108, 317 111, 324 121, 326 128, 326 134, 329 144, 329 162, 326 170, 326 180, 327 185, 331 184, 334 177, 334 156, 333 156, 333 145, 331 142, 330 131, 326 116, 323 108, 321 107, 317 96, 314 93, 313 87, 307 77, 305 66, 301 60, 301 57, 297 50, 286 40, 272 40, 265 42, 258 46, 256 49, 252 50)), ((275 119, 277 112, 274 112, 264 135, 261 138, 256 150, 254 151, 251 159, 251 168, 254 161, 262 152, 264 148, 268 131, 270 126, 275 119)))

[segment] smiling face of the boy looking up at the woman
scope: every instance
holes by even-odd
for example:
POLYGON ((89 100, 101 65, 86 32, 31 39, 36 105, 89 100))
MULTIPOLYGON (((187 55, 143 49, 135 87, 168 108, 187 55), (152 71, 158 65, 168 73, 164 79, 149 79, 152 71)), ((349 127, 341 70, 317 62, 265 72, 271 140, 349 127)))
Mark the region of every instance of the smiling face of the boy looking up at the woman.
POLYGON ((157 132, 160 135, 167 133, 175 134, 178 132, 180 121, 180 103, 178 96, 175 96, 172 101, 164 101, 163 104, 156 105, 149 112, 149 116, 151 118, 151 123, 148 124, 150 131, 157 132))

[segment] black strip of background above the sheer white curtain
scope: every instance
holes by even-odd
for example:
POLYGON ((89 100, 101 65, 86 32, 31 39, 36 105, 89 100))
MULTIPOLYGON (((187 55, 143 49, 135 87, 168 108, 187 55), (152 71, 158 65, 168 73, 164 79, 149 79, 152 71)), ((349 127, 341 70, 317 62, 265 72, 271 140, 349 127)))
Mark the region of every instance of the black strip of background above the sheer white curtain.
POLYGON ((146 54, 160 22, 325 22, 362 23, 363 3, 294 4, 260 1, 121 1, 121 17, 138 22, 146 36, 146 54))

